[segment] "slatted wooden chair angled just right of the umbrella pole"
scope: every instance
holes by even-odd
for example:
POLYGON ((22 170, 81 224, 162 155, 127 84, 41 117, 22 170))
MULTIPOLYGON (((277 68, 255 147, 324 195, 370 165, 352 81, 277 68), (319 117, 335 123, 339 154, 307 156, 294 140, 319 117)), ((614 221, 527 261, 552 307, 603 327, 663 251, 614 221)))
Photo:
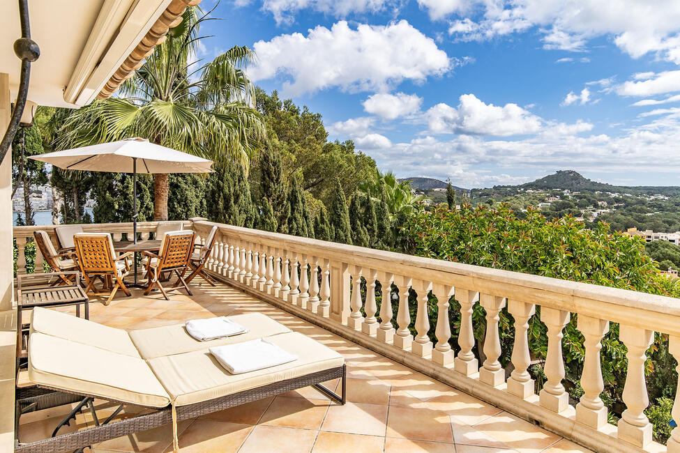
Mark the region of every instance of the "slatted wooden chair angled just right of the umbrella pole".
POLYGON ((163 272, 174 272, 177 275, 177 283, 172 289, 167 291, 174 291, 179 288, 181 284, 189 295, 192 295, 191 290, 184 280, 184 273, 189 262, 189 256, 194 247, 194 232, 193 231, 170 231, 165 233, 163 241, 160 243, 159 254, 145 251, 142 256, 148 257, 146 261, 146 275, 149 276, 149 286, 146 287, 144 295, 151 293, 151 290, 158 287, 165 300, 170 300, 167 297, 167 292, 163 285, 160 284, 160 276, 163 272))

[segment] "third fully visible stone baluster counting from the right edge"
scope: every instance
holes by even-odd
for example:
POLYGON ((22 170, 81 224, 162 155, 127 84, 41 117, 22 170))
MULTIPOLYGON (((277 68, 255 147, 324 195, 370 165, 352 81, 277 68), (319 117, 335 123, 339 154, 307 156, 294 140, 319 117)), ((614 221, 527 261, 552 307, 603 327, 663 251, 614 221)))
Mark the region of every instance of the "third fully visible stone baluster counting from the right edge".
POLYGON ((547 381, 539 392, 541 406, 560 413, 569 406, 569 394, 564 391, 564 358, 562 357, 562 337, 564 326, 569 322, 569 312, 549 307, 541 307, 541 321, 547 327, 547 356, 545 358, 545 377, 547 381))

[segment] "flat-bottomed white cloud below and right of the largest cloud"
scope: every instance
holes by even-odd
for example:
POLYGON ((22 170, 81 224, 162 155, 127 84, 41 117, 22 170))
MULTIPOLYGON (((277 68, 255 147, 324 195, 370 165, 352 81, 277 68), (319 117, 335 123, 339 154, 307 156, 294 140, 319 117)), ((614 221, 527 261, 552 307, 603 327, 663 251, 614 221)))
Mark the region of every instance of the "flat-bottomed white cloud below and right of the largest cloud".
POLYGON ((440 103, 425 113, 428 130, 433 134, 471 134, 506 137, 538 132, 541 118, 517 104, 499 107, 485 104, 474 94, 459 98, 458 107, 440 103))

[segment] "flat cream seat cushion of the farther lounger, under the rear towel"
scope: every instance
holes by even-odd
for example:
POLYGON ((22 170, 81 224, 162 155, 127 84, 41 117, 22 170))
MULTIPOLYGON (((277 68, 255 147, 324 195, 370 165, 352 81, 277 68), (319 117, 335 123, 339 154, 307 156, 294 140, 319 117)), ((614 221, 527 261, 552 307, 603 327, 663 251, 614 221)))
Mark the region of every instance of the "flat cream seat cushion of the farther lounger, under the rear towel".
POLYGON ((183 324, 178 324, 133 330, 130 332, 130 338, 135 346, 137 346, 137 350, 142 355, 142 358, 152 359, 161 355, 201 351, 212 346, 240 343, 241 341, 290 332, 290 329, 285 325, 274 321, 262 313, 237 314, 228 317, 235 323, 243 325, 243 327, 248 329, 248 332, 211 341, 198 341, 186 332, 183 324))

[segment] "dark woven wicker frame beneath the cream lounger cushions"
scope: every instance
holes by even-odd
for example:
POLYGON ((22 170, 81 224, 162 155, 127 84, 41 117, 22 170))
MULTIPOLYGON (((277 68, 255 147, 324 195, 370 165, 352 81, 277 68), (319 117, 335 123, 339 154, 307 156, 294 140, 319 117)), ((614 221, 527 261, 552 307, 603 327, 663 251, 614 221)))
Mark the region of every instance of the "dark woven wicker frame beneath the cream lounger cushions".
MULTIPOLYGON (((288 379, 287 381, 280 381, 277 383, 264 385, 251 390, 244 390, 243 392, 230 394, 225 397, 203 401, 201 403, 189 404, 187 406, 178 406, 177 420, 185 420, 188 418, 198 417, 199 415, 206 415, 224 410, 233 406, 249 403, 258 399, 273 397, 277 394, 289 392, 302 387, 314 386, 317 390, 324 393, 327 397, 338 401, 340 404, 345 404, 346 396, 346 368, 347 365, 326 369, 324 371, 317 371, 316 373, 305 374, 299 378, 288 379), (331 379, 341 378, 341 393, 335 394, 328 388, 321 385, 322 382, 330 381, 331 379)), ((61 392, 61 391, 59 391, 61 392)), ((62 392, 67 395, 72 393, 62 392)), ((49 394, 45 394, 49 395, 49 394)), ((89 395, 82 395, 87 397, 89 395)), ((36 398, 34 395, 32 398, 36 398)), ((78 398, 77 400, 80 400, 78 398)), ((22 402, 17 400, 17 406, 22 402)), ((119 402, 120 401, 115 401, 119 402)), ((144 431, 146 429, 156 428, 172 422, 172 413, 169 407, 156 410, 153 413, 144 415, 137 415, 125 420, 102 424, 98 427, 83 429, 82 431, 75 431, 74 433, 62 434, 53 438, 38 440, 33 443, 19 443, 17 439, 15 445, 15 452, 31 452, 31 453, 54 453, 67 450, 75 450, 87 445, 93 445, 103 442, 104 440, 114 439, 120 436, 126 436, 131 433, 144 431)))

